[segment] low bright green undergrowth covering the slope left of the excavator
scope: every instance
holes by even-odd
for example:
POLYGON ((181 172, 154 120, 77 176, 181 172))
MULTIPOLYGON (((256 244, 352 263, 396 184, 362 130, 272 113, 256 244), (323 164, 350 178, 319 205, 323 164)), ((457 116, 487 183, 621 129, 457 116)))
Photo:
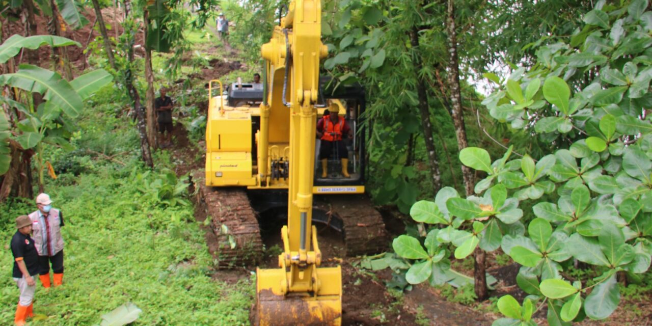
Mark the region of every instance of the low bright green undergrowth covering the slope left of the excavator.
MULTIPOLYGON (((186 185, 169 173, 166 153, 156 153, 154 171, 143 168, 136 128, 108 104, 112 96, 108 87, 87 104, 75 151, 48 149, 63 172, 46 191, 65 214, 65 284, 49 292, 38 285, 35 313, 43 316, 31 325, 93 325, 129 301, 143 310, 136 325, 248 323, 251 280, 228 286, 211 279, 213 258, 181 191, 186 185)), ((20 199, 0 205, 5 271, 13 261, 14 218, 34 209, 20 199)), ((8 273, 0 288, 0 320, 9 321, 18 289, 8 273)))

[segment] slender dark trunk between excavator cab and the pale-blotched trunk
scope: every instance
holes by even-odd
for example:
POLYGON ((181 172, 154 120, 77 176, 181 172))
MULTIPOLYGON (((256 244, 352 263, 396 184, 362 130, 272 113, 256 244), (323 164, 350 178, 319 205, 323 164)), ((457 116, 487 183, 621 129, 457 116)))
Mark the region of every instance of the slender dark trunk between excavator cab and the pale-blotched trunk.
POLYGON ((441 173, 439 172, 439 160, 437 157, 437 148, 435 147, 434 139, 432 137, 432 123, 430 122, 430 106, 428 106, 428 95, 426 94, 426 82, 419 77, 419 71, 423 67, 421 60, 421 53, 419 53, 419 35, 417 35, 417 27, 412 27, 409 33, 410 44, 415 52, 413 61, 415 68, 415 78, 417 78, 417 94, 419 95, 419 113, 421 113, 421 121, 423 128, 423 140, 426 143, 426 150, 428 151, 428 162, 430 162, 430 174, 432 175, 432 188, 437 193, 441 189, 441 173))

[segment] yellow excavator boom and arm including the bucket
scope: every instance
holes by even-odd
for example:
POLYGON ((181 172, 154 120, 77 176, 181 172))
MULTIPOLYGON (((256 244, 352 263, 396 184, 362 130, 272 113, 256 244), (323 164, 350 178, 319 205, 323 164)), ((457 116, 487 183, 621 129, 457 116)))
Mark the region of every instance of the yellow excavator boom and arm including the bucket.
POLYGON ((278 269, 256 271, 259 325, 340 325, 342 272, 319 267, 321 252, 312 226, 312 186, 321 43, 321 1, 294 0, 270 42, 261 48, 266 61, 266 91, 259 134, 259 178, 268 177, 270 123, 289 111, 288 225, 281 230, 284 252, 278 269), (282 76, 283 78, 275 78, 282 76), (280 97, 280 98, 279 98, 280 97), (284 111, 285 110, 285 111, 284 111))

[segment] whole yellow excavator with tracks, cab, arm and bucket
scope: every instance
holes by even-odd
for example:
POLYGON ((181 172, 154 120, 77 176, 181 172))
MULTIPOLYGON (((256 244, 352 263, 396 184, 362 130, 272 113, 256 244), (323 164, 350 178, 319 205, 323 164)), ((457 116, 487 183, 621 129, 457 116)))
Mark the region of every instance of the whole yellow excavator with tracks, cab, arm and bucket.
POLYGON ((287 194, 278 268, 256 270, 258 325, 341 324, 341 269, 320 266, 313 222, 340 231, 349 255, 378 252, 389 239, 364 196, 364 130, 358 129, 364 92, 342 87, 339 94, 322 95, 319 61, 326 55, 321 0, 294 0, 261 48, 261 84, 233 83, 225 91, 218 80, 209 83, 200 189, 201 213, 211 216, 218 237, 209 250, 225 263, 256 261, 263 250, 258 219, 278 208, 278 194, 287 194), (213 85, 219 85, 218 95, 213 85), (350 122, 357 138, 348 144, 350 152, 335 153, 318 166, 316 125, 327 109, 350 122), (314 195, 327 199, 315 201, 314 195))

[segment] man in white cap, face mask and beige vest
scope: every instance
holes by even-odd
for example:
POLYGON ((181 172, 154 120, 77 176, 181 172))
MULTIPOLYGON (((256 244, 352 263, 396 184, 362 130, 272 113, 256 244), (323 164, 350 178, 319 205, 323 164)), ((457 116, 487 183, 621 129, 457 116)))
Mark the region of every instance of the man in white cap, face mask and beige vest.
POLYGON ((50 264, 54 286, 63 282, 63 214, 52 208, 48 194, 37 196, 38 210, 31 213, 34 244, 38 252, 38 274, 44 288, 50 288, 50 264))

